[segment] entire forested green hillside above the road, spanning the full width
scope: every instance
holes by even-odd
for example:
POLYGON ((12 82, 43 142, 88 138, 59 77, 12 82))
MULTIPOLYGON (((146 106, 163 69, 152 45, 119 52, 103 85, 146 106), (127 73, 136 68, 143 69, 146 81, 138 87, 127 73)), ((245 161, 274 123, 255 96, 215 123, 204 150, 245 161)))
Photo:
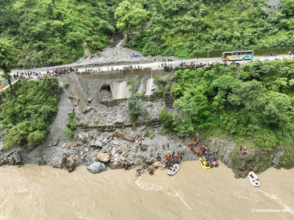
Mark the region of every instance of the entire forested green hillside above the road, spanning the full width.
POLYGON ((230 48, 294 42, 294 1, 280 0, 2 0, 0 38, 11 39, 18 66, 74 62, 107 47, 115 31, 144 55, 193 57, 230 48))

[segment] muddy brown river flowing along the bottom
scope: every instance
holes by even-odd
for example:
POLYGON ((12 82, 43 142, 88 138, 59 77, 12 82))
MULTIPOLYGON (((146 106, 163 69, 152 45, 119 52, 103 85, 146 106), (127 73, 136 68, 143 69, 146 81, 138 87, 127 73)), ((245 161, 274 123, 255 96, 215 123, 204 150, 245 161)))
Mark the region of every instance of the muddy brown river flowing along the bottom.
POLYGON ((182 163, 174 176, 135 174, 2 166, 0 219, 294 219, 294 169, 266 170, 260 187, 235 179, 223 164, 205 170, 196 161, 182 163))

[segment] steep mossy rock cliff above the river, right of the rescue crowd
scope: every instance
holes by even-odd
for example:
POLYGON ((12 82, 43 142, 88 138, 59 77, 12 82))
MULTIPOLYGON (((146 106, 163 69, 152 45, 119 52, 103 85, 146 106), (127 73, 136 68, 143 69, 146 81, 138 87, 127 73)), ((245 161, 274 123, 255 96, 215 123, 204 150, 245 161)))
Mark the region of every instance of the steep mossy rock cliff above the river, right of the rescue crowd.
MULTIPOLYGON (((201 137, 201 135, 200 135, 201 137)), ((210 146, 213 151, 218 150, 218 159, 233 170, 235 177, 245 177, 252 167, 254 172, 260 173, 269 167, 290 169, 293 163, 292 146, 276 145, 275 148, 258 148, 254 140, 241 143, 224 136, 203 136, 203 144, 210 146), (246 146, 246 154, 241 153, 240 146, 246 146), (240 175, 240 171, 244 174, 240 175)))

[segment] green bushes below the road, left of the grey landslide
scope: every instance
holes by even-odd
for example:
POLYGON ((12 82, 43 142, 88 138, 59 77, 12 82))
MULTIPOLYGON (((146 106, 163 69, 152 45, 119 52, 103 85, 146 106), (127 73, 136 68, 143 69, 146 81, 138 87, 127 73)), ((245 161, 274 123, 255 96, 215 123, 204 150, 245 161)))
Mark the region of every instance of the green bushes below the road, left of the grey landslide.
POLYGON ((2 141, 9 150, 16 144, 28 144, 30 149, 42 143, 49 125, 54 121, 59 99, 58 79, 45 77, 42 81, 14 84, 15 96, 0 93, 0 129, 2 141))

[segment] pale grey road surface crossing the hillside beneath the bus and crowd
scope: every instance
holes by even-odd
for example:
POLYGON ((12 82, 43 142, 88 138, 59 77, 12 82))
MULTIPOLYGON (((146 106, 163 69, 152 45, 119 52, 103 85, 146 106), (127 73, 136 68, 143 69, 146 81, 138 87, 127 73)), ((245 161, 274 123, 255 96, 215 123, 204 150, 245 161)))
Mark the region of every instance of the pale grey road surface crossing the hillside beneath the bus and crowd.
MULTIPOLYGON (((290 58, 290 57, 293 57, 293 55, 292 56, 289 56, 289 55, 278 55, 276 57, 279 58, 279 59, 283 59, 283 57, 284 58, 290 58)), ((253 58, 253 60, 257 60, 257 59, 259 59, 259 60, 265 60, 265 59, 275 60, 275 57, 264 57, 264 56, 262 56, 262 57, 254 57, 253 58)), ((169 63, 172 63, 173 66, 177 66, 181 61, 184 61, 186 63, 191 62, 191 61, 195 61, 195 62, 198 62, 198 63, 200 63, 200 62, 203 62, 204 63, 204 62, 207 62, 207 61, 209 63, 216 62, 216 61, 223 62, 220 57, 214 57, 214 58, 208 58, 208 59, 207 58, 206 59, 204 59, 204 58, 201 58, 201 59, 193 58, 193 59, 188 59, 188 60, 174 60, 173 62, 169 62, 169 63)), ((239 62, 239 63, 247 63, 249 61, 248 60, 245 60, 245 61, 240 60, 240 61, 237 61, 237 62, 239 62)), ((166 62, 166 63, 168 63, 168 62, 166 62)), ((157 69, 158 68, 158 65, 160 65, 160 68, 161 68, 161 62, 136 64, 136 68, 138 68, 138 65, 140 66, 140 68, 142 66, 143 68, 151 67, 152 69, 157 69)), ((114 68, 114 70, 117 69, 117 68, 120 69, 120 70, 122 70, 123 69, 123 66, 126 66, 126 65, 115 65, 115 66, 113 66, 113 68, 114 68)), ((79 71, 85 71, 86 69, 88 70, 90 68, 93 68, 93 69, 94 68, 97 68, 98 69, 98 67, 88 66, 88 67, 78 68, 78 70, 79 71)), ((43 72, 43 71, 45 71, 45 73, 46 73, 47 70, 52 71, 52 67, 44 67, 44 70, 42 68, 35 69, 35 71, 37 71, 37 72, 43 72)), ((109 70, 111 70, 111 66, 109 66, 109 70)), ((16 72, 21 72, 21 71, 22 70, 12 70, 11 73, 13 74, 13 73, 16 73, 16 72)), ((107 71, 107 66, 102 66, 102 71, 103 72, 104 71, 107 71)), ((0 72, 0 74, 1 74, 1 72, 0 72)))

